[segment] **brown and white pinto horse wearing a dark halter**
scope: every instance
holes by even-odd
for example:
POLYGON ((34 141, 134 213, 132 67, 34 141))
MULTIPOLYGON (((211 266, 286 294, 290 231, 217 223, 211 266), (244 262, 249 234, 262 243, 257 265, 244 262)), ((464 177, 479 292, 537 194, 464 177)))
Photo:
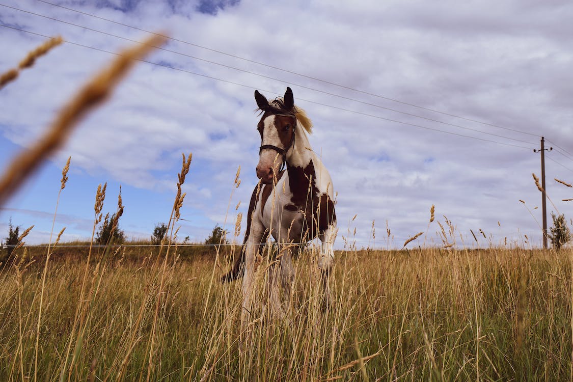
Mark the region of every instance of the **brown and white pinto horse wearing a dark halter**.
MULTIPOLYGON (((229 282, 242 275, 243 314, 250 312, 256 261, 269 234, 278 243, 280 268, 275 277, 280 276, 285 296, 290 294, 295 277, 294 244, 319 237, 317 266, 328 300, 328 275, 333 266, 337 234, 331 176, 308 141, 311 120, 303 109, 295 106, 291 88, 286 88, 284 97, 274 100, 255 90, 254 98, 261 115, 257 124, 261 146, 256 168, 260 180, 250 198, 240 255, 222 277, 223 282, 229 282)), ((269 278, 271 283, 275 277, 269 278)), ((271 293, 273 290, 276 288, 271 285, 271 293)))

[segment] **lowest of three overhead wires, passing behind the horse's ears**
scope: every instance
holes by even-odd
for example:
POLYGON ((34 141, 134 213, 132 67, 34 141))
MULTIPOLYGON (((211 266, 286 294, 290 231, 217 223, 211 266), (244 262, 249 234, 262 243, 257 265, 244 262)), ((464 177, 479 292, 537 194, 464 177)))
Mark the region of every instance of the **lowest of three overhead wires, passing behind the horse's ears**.
MULTIPOLYGON (((45 34, 36 33, 36 32, 33 32, 33 31, 29 31, 29 30, 17 28, 17 27, 14 27, 14 26, 4 25, 4 24, 2 24, 2 23, 0 23, 0 26, 7 27, 7 28, 13 29, 13 30, 22 31, 22 32, 29 33, 29 34, 34 34, 34 35, 36 35, 36 36, 40 36, 40 37, 44 37, 44 38, 50 38, 50 36, 46 36, 45 34)), ((76 46, 81 46, 81 47, 83 47, 83 48, 93 49, 93 50, 97 50, 97 51, 99 51, 99 52, 104 52, 104 53, 109 53, 109 54, 114 54, 114 55, 116 55, 116 56, 120 56, 119 53, 111 52, 111 51, 109 51, 109 50, 100 49, 100 48, 95 48, 95 47, 93 47, 93 46, 84 45, 84 44, 79 44, 79 43, 77 43, 77 42, 72 42, 72 41, 64 41, 64 42, 67 43, 67 44, 72 44, 72 45, 76 45, 76 46)), ((151 64, 151 65, 162 66, 163 68, 168 68, 168 69, 178 70, 178 71, 184 72, 184 73, 194 74, 195 76, 201 76, 201 77, 209 78, 209 79, 211 79, 211 80, 226 82, 227 84, 242 86, 242 87, 244 87, 244 88, 249 88, 249 89, 253 89, 253 90, 254 90, 254 89, 257 89, 257 88, 255 88, 255 87, 253 87, 253 86, 249 86, 249 85, 245 85, 245 84, 240 84, 239 82, 234 82, 234 81, 229 81, 229 80, 223 80, 222 78, 217 78, 217 77, 213 77, 213 76, 207 76, 206 74, 201 74, 201 73, 192 72, 191 70, 176 68, 175 66, 166 65, 166 64, 161 64, 161 63, 159 63, 159 62, 153 62, 153 61, 148 61, 148 60, 143 60, 143 59, 136 59, 136 60, 137 60, 137 61, 140 61, 140 62, 146 62, 147 64, 151 64)), ((264 91, 264 92, 272 93, 270 90, 264 90, 264 89, 260 89, 260 90, 262 90, 262 91, 264 91)), ((305 101, 305 102, 308 102, 308 103, 312 103, 312 104, 316 104, 316 105, 321 105, 321 106, 328 107, 328 108, 332 108, 332 109, 337 109, 337 110, 340 110, 340 111, 346 111, 346 112, 350 112, 350 113, 355 113, 355 114, 358 114, 358 115, 363 115, 363 116, 367 116, 367 117, 372 117, 372 118, 376 118, 376 119, 381 119, 381 120, 385 120, 385 121, 389 121, 389 122, 393 122, 393 123, 405 124, 405 125, 409 125, 409 126, 412 126, 412 127, 417 127, 417 128, 421 128, 421 129, 430 130, 430 131, 441 132, 441 133, 445 133, 445 134, 450 134, 450 135, 456 135, 456 136, 465 137, 465 138, 470 138, 470 139, 481 140, 481 141, 485 141, 485 142, 489 142, 489 143, 496 143, 496 144, 501 144, 501 145, 506 145, 506 146, 511 146, 511 147, 519 147, 519 148, 531 150, 531 147, 525 147, 525 146, 522 146, 522 145, 516 145, 516 144, 511 144, 511 143, 504 143, 504 142, 499 142, 499 141, 494 141, 494 140, 489 140, 489 139, 474 137, 474 136, 470 136, 470 135, 463 135, 463 134, 454 133, 454 132, 450 132, 450 131, 445 131, 445 130, 435 129, 435 128, 426 127, 426 126, 422 126, 422 125, 418 125, 418 124, 413 124, 413 123, 409 123, 409 122, 405 122, 405 121, 399 121, 399 120, 394 120, 394 119, 390 119, 390 118, 386 118, 386 117, 382 117, 382 116, 376 116, 376 115, 372 115, 372 114, 368 114, 368 113, 363 113, 363 112, 359 112, 359 111, 354 111, 354 110, 351 110, 351 109, 336 107, 336 106, 333 106, 333 105, 323 104, 323 103, 319 103, 319 102, 316 102, 316 101, 305 100, 305 99, 299 99, 299 100, 300 100, 300 101, 305 101)))

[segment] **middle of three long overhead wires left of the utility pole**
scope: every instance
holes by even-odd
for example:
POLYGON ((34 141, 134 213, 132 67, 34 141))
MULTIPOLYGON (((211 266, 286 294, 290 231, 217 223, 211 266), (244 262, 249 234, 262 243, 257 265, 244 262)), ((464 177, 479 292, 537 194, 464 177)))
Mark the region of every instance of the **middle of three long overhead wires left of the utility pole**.
MULTIPOLYGON (((38 1, 41 1, 41 0, 38 0, 38 1)), ((50 4, 51 4, 51 3, 50 3, 50 4)), ((38 17, 43 17, 43 18, 50 19, 50 20, 53 20, 53 21, 57 21, 57 22, 65 23, 65 24, 72 25, 72 26, 75 26, 75 27, 79 27, 79 28, 82 28, 82 29, 85 29, 85 30, 94 31, 94 32, 96 32, 96 33, 101 33, 101 34, 104 34, 104 35, 106 35, 106 36, 111 36, 111 37, 115 37, 115 38, 120 38, 121 40, 129 41, 129 42, 135 42, 136 44, 141 44, 141 43, 140 43, 139 41, 137 41, 137 40, 132 40, 131 38, 127 38, 127 37, 123 37, 123 36, 118 36, 118 35, 113 34, 113 33, 108 33, 108 32, 101 31, 101 30, 97 30, 97 29, 93 29, 93 28, 90 28, 90 27, 87 27, 87 26, 78 25, 78 24, 75 24, 75 23, 72 23, 72 22, 68 22, 68 21, 63 21, 63 20, 60 20, 60 19, 57 19, 57 18, 53 18, 53 17, 49 17, 49 16, 46 16, 46 15, 34 13, 34 12, 32 12, 32 11, 27 11, 27 10, 19 9, 19 8, 16 8, 16 7, 8 6, 8 5, 5 5, 5 4, 2 4, 2 3, 0 3, 0 5, 1 5, 1 6, 5 6, 5 7, 7 7, 7 8, 10 8, 10 9, 14 9, 14 10, 17 10, 17 11, 21 11, 21 12, 24 12, 24 13, 32 14, 32 15, 35 15, 35 16, 38 16, 38 17)), ((477 133, 482 133, 482 134, 485 134, 485 135, 490 135, 490 136, 494 136, 494 137, 499 137, 499 138, 503 138, 503 139, 507 139, 507 140, 517 141, 517 142, 520 142, 520 143, 532 144, 532 143, 529 142, 529 141, 525 141, 525 140, 521 140, 521 139, 517 139, 517 138, 512 138, 512 137, 508 137, 508 136, 498 135, 498 134, 494 134, 494 133, 490 133, 490 132, 485 132, 485 131, 481 131, 481 130, 478 130, 478 129, 473 129, 473 128, 465 127, 465 126, 462 126, 462 125, 452 124, 452 123, 448 123, 448 122, 444 122, 444 121, 440 121, 440 120, 436 120, 436 119, 431 119, 431 118, 429 118, 429 117, 424 117, 424 116, 415 115, 415 114, 413 114, 413 113, 403 112, 403 111, 400 111, 400 110, 397 110, 397 109, 393 109, 393 108, 383 107, 383 106, 381 106, 381 105, 376 105, 376 104, 372 104, 372 103, 367 103, 367 102, 364 102, 364 101, 352 99, 351 97, 341 96, 340 94, 335 94, 335 93, 331 93, 331 92, 326 92, 326 91, 324 91, 324 90, 319 90, 319 89, 311 88, 311 87, 309 87, 309 86, 305 86, 305 85, 301 85, 301 84, 295 84, 295 83, 292 83, 292 82, 289 82, 289 81, 286 81, 286 80, 281 80, 280 78, 274 78, 274 77, 270 77, 270 76, 265 76, 264 74, 252 72, 252 71, 250 71, 250 70, 240 69, 240 68, 236 68, 236 67, 234 67, 234 66, 221 64, 220 62, 205 60, 205 59, 203 59, 203 58, 191 56, 190 54, 177 52, 177 51, 171 50, 171 49, 162 48, 162 47, 160 47, 160 46, 154 46, 154 48, 159 49, 159 50, 163 50, 164 52, 179 54, 180 56, 185 56, 185 57, 188 57, 188 58, 193 58, 194 60, 204 61, 204 62, 207 62, 207 63, 209 63, 209 64, 218 65, 218 66, 223 66, 224 68, 233 69, 233 70, 238 70, 239 72, 252 74, 252 75, 254 75, 254 76, 266 78, 266 79, 269 79, 269 80, 279 81, 279 82, 282 82, 282 83, 284 83, 284 84, 289 84, 289 85, 293 85, 293 86, 298 86, 299 88, 312 90, 312 91, 314 91, 314 92, 323 93, 323 94, 328 94, 329 96, 338 97, 338 98, 340 98, 340 99, 344 99, 344 100, 348 100, 348 101, 353 101, 353 102, 356 102, 356 103, 360 103, 360 104, 364 104, 364 105, 368 105, 368 106, 372 106, 372 107, 384 109, 384 110, 391 111, 391 112, 395 112, 395 113, 400 113, 400 114, 402 114, 402 115, 411 116, 411 117, 416 117, 416 118, 420 118, 420 119, 423 119, 423 120, 432 121, 432 122, 435 122, 435 123, 440 123, 440 124, 444 124, 444 125, 448 125, 448 126, 452 126, 452 127, 456 127, 456 128, 465 129, 465 130, 468 130, 468 131, 473 131, 473 132, 477 132, 477 133)))

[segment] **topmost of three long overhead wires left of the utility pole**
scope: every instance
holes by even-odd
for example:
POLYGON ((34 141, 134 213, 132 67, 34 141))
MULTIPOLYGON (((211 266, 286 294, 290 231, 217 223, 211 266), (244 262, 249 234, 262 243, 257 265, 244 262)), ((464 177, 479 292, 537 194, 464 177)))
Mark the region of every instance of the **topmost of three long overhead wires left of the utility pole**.
MULTIPOLYGON (((129 28, 131 28, 131 29, 143 31, 143 32, 146 32, 146 33, 158 34, 158 33, 154 33, 153 31, 150 31, 150 30, 142 29, 142 28, 139 28, 139 27, 136 27, 136 26, 132 26, 132 25, 128 25, 128 24, 122 23, 122 22, 117 22, 117 21, 114 21, 114 20, 112 20, 112 19, 108 19, 108 18, 105 18, 105 17, 96 16, 96 15, 91 14, 91 13, 88 13, 88 12, 80 11, 80 10, 73 9, 73 8, 69 8, 69 7, 65 7, 65 6, 62 6, 62 5, 59 5, 59 4, 55 4, 55 3, 52 3, 52 2, 49 2, 49 1, 45 1, 45 0, 37 0, 37 1, 42 2, 42 3, 49 4, 49 5, 52 5, 52 6, 60 7, 60 8, 62 8, 62 9, 70 10, 70 11, 73 11, 73 12, 76 12, 76 13, 84 14, 84 15, 87 15, 87 16, 89 16, 89 17, 93 17, 93 18, 97 18, 97 19, 100 19, 100 20, 104 20, 104 21, 108 21, 108 22, 111 22, 111 23, 115 23, 116 25, 121 25, 121 26, 129 27, 129 28)), ((161 35, 161 34, 158 34, 158 35, 159 35, 159 36, 163 36, 163 35, 161 35)), ((343 89, 347 89, 347 90, 352 90, 353 92, 358 92, 358 93, 366 94, 366 95, 368 95, 368 96, 377 97, 377 98, 379 98, 379 99, 384 99, 384 100, 388 100, 388 101, 393 101, 393 102, 395 102, 395 103, 399 103, 399 104, 403 104, 403 105, 408 105, 408 106, 415 107, 415 108, 419 108, 419 109, 423 109, 423 110, 426 110, 426 111, 430 111, 430 112, 434 112, 434 113, 439 113, 439 114, 442 114, 442 115, 446 115, 446 116, 450 116, 450 117, 455 117, 455 118, 459 118, 459 119, 462 119, 462 120, 466 120, 466 121, 470 121, 470 122, 474 122, 474 123, 479 123, 479 124, 482 124, 482 125, 488 125, 488 126, 495 127, 495 128, 505 129, 505 130, 508 130, 508 131, 518 132, 518 133, 527 134, 527 135, 530 135, 530 136, 535 136, 535 137, 537 137, 537 134, 534 134, 534 133, 524 132, 524 131, 520 131, 520 130, 517 130, 517 129, 512 129, 512 128, 508 128, 508 127, 503 127, 503 126, 499 126, 499 125, 496 125, 496 124, 490 124, 490 123, 487 123, 487 122, 484 122, 484 121, 474 120, 474 119, 470 119, 470 118, 466 118, 466 117, 454 115, 454 114, 451 114, 451 113, 446 113, 446 112, 438 111, 438 110, 435 110, 435 109, 422 107, 422 106, 415 105, 415 104, 412 104, 412 103, 407 103, 407 102, 405 102, 405 101, 400 101, 400 100, 392 99, 392 98, 389 98, 389 97, 380 96, 379 94, 370 93, 370 92, 366 92, 366 91, 364 91, 364 90, 352 88, 351 86, 341 85, 341 84, 337 84, 336 82, 331 82, 331 81, 323 80, 323 79, 321 79, 321 78, 316 78, 316 77, 312 77, 312 76, 307 76, 306 74, 302 74, 302 73, 298 73, 298 72, 293 72, 292 70, 279 68, 278 66, 273 66, 273 65, 265 64, 264 62, 255 61, 255 60, 250 60, 249 58, 244 58, 244 57, 241 57, 241 56, 237 56, 236 54, 231 54, 231 53, 223 52, 222 50, 212 49, 212 48, 208 48, 208 47, 206 47, 206 46, 202 46, 202 45, 198 45, 198 44, 193 44, 192 42, 185 41, 185 40, 179 40, 178 38, 169 37, 169 36, 163 36, 163 37, 166 37, 166 38, 168 38, 168 39, 171 40, 171 41, 182 42, 183 44, 195 46, 196 48, 201 48, 201 49, 209 50, 210 52, 215 52, 215 53, 223 54, 223 55, 225 55, 225 56, 237 58, 238 60, 243 60, 243 61, 246 61, 246 62, 251 62, 251 63, 253 63, 253 64, 257 64, 257 65, 261 65, 261 66, 266 66, 267 68, 271 68, 271 69, 275 69, 275 70, 280 70, 281 72, 290 73, 290 74, 295 74, 296 76, 308 78, 309 80, 314 80, 314 81, 323 82, 324 84, 337 86, 337 87, 339 87, 339 88, 343 88, 343 89)))

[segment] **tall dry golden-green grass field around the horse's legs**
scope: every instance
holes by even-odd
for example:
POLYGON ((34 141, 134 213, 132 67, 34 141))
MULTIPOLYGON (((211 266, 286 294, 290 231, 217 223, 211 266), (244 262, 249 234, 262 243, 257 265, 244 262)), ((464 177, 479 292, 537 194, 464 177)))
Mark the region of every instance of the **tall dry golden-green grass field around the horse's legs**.
POLYGON ((572 250, 336 255, 327 307, 311 251, 286 316, 259 271, 241 325, 230 254, 21 253, 0 274, 0 380, 571 379, 572 250))

